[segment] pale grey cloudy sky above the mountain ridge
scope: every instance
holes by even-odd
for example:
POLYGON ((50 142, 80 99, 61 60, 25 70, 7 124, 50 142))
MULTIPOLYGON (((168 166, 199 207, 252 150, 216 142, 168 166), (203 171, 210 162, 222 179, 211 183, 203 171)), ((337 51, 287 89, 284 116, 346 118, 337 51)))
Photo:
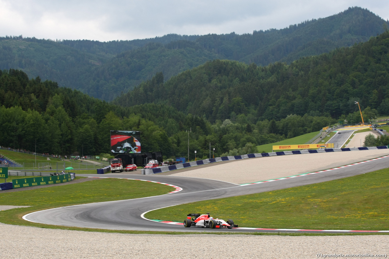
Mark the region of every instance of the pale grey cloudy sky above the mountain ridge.
POLYGON ((348 7, 389 19, 388 0, 0 0, 0 36, 99 41, 282 29, 348 7))

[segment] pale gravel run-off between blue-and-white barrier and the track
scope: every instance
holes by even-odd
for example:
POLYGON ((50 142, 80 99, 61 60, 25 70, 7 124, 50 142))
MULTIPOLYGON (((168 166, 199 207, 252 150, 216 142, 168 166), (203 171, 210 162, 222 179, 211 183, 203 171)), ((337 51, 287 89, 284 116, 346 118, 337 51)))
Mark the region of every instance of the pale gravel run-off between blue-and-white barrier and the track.
POLYGON ((228 163, 222 162, 219 165, 202 167, 185 172, 175 173, 175 171, 172 171, 171 175, 220 180, 233 184, 248 184, 350 165, 388 154, 389 149, 376 149, 268 156, 230 161, 228 163))

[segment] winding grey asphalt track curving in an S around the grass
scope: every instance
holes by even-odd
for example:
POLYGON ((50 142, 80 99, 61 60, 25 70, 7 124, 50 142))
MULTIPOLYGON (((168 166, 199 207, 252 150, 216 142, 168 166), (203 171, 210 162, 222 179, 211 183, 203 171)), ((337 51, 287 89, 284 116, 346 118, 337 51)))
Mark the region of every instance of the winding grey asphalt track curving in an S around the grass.
MULTIPOLYGON (((233 163, 233 162, 232 162, 233 163)), ((117 229, 117 230, 140 230, 140 231, 240 231, 253 232, 259 230, 253 229, 204 229, 204 228, 184 228, 181 225, 165 224, 149 221, 141 217, 144 212, 190 203, 194 201, 212 200, 217 198, 226 198, 245 194, 261 193, 278 189, 285 189, 295 186, 303 186, 319 182, 340 179, 359 175, 362 173, 373 172, 387 168, 388 158, 377 159, 358 165, 331 170, 302 177, 252 184, 248 186, 239 186, 228 182, 221 182, 209 179, 198 179, 191 177, 177 177, 170 175, 98 175, 101 177, 119 177, 140 180, 151 180, 163 182, 181 187, 183 190, 178 193, 165 194, 133 200, 109 201, 102 203, 91 203, 84 205, 75 205, 70 207, 54 208, 25 215, 25 219, 32 222, 43 224, 74 226, 81 228, 97 229, 117 229)), ((323 168, 324 169, 324 168, 323 168)), ((90 177, 91 175, 77 175, 90 177)), ((206 213, 206 212, 187 212, 187 213, 206 213)), ((182 220, 185 219, 183 216, 182 220)), ((214 215, 215 217, 217 215, 214 215)), ((235 224, 239 224, 235 221, 235 224)), ((385 230, 385 229, 382 229, 385 230)), ((261 231, 263 232, 263 231, 261 231)), ((272 232, 272 231, 269 231, 272 232)), ((282 232, 277 230, 276 232, 282 232)), ((293 231, 287 231, 293 232, 293 231)), ((301 231, 299 231, 301 232, 301 231)), ((310 231, 312 232, 312 231, 310 231)), ((337 231, 333 231, 337 232, 337 231)))

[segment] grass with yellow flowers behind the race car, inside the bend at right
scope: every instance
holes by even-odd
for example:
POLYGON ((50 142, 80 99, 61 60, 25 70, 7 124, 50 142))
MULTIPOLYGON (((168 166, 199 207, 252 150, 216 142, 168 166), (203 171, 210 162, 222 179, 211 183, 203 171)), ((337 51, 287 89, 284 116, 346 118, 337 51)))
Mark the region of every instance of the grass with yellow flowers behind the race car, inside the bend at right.
POLYGON ((319 184, 154 210, 148 219, 188 213, 233 219, 240 227, 389 230, 389 168, 319 184))

